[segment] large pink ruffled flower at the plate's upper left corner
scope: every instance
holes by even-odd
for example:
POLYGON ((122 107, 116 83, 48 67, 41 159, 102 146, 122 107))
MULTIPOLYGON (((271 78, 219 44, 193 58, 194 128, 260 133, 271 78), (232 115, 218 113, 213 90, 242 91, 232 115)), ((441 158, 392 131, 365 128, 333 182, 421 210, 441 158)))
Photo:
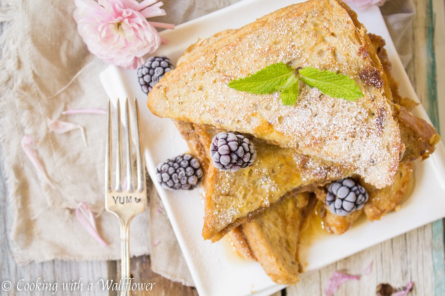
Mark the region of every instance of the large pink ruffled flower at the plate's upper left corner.
MULTIPOLYGON (((88 50, 105 62, 135 69, 154 52, 161 37, 146 18, 165 15, 157 0, 75 0, 74 19, 88 50)), ((164 26, 166 27, 166 26, 164 26)), ((167 28, 173 28, 168 24, 167 28)))

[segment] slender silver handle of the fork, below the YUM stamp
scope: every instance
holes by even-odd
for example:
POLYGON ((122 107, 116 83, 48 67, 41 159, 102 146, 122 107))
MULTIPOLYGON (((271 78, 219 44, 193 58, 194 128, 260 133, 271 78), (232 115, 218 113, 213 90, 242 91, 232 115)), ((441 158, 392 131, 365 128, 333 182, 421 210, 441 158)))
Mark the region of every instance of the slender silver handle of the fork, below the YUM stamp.
POLYGON ((130 287, 126 286, 126 283, 130 284, 130 222, 132 218, 119 219, 121 224, 121 279, 124 283, 121 296, 130 295, 130 287))

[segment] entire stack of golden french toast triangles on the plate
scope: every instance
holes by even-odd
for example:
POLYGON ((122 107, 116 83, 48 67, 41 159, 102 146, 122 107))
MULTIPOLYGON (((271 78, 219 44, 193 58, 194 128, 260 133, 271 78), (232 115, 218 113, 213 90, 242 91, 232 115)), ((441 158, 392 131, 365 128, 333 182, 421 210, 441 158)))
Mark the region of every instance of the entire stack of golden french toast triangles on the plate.
POLYGON ((363 213, 373 221, 400 208, 414 184, 411 162, 427 158, 440 137, 411 114, 417 103, 399 95, 384 45, 341 0, 309 0, 187 48, 148 94, 148 108, 175 120, 203 167, 204 239, 227 234, 273 281, 295 284, 299 235, 314 213, 327 232, 342 234, 363 213), (276 63, 348 75, 363 97, 347 101, 301 84, 298 101, 285 106, 277 92, 227 86, 276 63), (249 138, 257 152, 251 166, 213 165, 220 132, 249 138), (345 178, 369 198, 339 216, 326 204, 327 186, 345 178))

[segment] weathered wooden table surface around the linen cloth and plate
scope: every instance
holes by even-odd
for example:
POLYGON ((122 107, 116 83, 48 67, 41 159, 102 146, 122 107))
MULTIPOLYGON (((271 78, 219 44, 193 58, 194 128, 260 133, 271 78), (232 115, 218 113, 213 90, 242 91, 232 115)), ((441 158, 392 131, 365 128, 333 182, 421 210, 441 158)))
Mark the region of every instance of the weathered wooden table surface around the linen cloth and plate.
MULTIPOLYGON (((408 65, 407 73, 423 106, 435 126, 438 127, 433 1, 417 0, 414 3, 417 11, 413 21, 414 55, 413 60, 408 65)), ((444 95, 441 94, 442 97, 444 95)), ((445 120, 444 117, 442 118, 445 120)), ((0 163, 0 180, 4 180, 3 176, 3 167, 0 163)), ((4 182, 0 182, 0 282, 9 280, 14 286, 20 279, 35 282, 38 278, 41 278, 45 279, 46 282, 61 285, 81 278, 84 282, 94 282, 97 279, 117 280, 119 278, 119 261, 72 262, 53 260, 17 266, 10 254, 7 239, 11 217, 7 211, 5 190, 4 182)), ((375 288, 381 282, 388 282, 393 286, 403 286, 409 281, 414 282, 413 295, 445 295, 443 221, 412 230, 334 263, 302 279, 299 284, 276 293, 274 296, 322 296, 323 287, 332 272, 347 270, 351 274, 357 274, 371 261, 373 267, 370 275, 362 277, 359 281, 349 281, 341 285, 336 295, 370 296, 375 295, 375 288)), ((148 256, 133 258, 131 265, 132 275, 137 282, 156 283, 150 293, 139 292, 134 295, 198 295, 194 288, 182 286, 153 273, 150 270, 150 258, 148 256)), ((9 292, 9 294, 6 294, 0 288, 0 295, 50 295, 50 293, 9 292)), ((101 289, 96 288, 91 292, 59 292, 57 295, 115 295, 115 292, 101 291, 101 289)))

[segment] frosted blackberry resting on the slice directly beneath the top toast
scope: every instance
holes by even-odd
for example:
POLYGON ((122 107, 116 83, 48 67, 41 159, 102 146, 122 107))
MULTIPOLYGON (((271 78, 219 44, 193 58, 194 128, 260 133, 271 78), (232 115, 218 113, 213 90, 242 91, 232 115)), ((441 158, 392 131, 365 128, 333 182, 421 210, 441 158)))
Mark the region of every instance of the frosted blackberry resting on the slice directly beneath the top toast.
POLYGON ((223 171, 238 171, 251 165, 257 157, 254 145, 242 135, 219 133, 210 144, 213 165, 223 171))

